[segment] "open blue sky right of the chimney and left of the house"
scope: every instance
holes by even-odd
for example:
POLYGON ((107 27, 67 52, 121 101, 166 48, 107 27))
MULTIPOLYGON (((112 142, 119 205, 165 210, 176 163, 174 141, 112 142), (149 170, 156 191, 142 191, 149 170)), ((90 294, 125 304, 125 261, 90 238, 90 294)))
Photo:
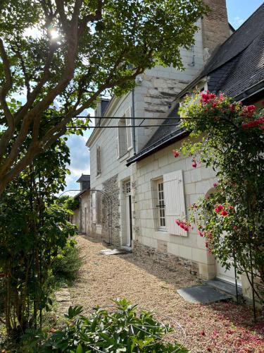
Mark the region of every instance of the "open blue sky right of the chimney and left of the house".
MULTIPOLYGON (((226 0, 228 20, 235 30, 263 4, 263 0, 226 0)), ((79 189, 80 185, 75 181, 81 174, 90 173, 89 150, 85 146, 92 131, 85 132, 84 136, 70 136, 68 146, 70 148, 70 171, 67 177, 67 187, 65 190, 79 189)))

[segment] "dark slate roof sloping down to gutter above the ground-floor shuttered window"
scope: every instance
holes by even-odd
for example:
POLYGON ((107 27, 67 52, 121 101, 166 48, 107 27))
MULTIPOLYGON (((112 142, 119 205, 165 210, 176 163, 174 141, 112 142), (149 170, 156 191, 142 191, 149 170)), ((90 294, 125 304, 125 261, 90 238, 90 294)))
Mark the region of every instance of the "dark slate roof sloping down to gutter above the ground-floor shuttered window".
POLYGON ((175 118, 165 119, 144 148, 127 160, 127 165, 187 136, 182 128, 165 125, 173 124, 175 120, 179 124, 177 101, 205 76, 208 77, 208 90, 225 92, 239 100, 264 89, 264 4, 216 50, 201 74, 175 97, 175 106, 168 114, 168 118, 175 118))

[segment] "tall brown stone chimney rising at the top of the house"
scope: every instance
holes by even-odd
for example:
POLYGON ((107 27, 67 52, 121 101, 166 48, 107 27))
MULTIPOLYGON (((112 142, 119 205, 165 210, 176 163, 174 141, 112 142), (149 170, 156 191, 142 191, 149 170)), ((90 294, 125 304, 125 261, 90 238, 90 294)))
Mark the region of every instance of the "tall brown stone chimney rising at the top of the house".
POLYGON ((201 21, 203 37, 203 59, 206 62, 211 54, 230 37, 225 0, 203 0, 210 7, 208 16, 201 21))

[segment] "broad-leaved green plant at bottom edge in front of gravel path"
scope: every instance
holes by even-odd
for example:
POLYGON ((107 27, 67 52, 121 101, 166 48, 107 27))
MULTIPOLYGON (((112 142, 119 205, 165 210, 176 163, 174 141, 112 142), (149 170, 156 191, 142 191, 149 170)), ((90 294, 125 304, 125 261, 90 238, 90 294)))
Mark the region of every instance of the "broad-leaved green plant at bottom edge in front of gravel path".
POLYGON ((162 340, 172 328, 156 321, 152 313, 138 314, 137 306, 126 299, 114 303, 115 311, 97 308, 89 318, 80 316, 81 306, 70 307, 67 325, 36 352, 188 352, 176 342, 162 340))

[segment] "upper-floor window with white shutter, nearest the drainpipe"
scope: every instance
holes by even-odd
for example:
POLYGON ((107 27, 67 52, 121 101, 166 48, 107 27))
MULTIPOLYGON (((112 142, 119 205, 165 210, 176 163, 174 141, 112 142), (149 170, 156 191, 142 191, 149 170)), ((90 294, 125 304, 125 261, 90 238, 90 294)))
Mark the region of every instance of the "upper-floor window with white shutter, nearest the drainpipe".
POLYGON ((117 147, 117 157, 122 157, 127 151, 129 151, 133 146, 132 140, 132 110, 129 107, 125 111, 125 115, 118 121, 117 131, 116 131, 116 147, 117 147))

